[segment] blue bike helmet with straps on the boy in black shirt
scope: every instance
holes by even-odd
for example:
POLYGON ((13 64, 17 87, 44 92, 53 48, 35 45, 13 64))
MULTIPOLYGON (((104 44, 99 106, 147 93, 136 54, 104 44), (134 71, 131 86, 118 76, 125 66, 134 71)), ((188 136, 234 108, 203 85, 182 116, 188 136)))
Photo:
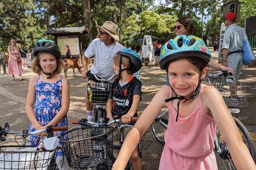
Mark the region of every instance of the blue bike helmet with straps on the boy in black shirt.
POLYGON ((131 69, 132 72, 137 72, 141 69, 142 61, 140 59, 140 55, 138 53, 136 53, 135 51, 124 48, 124 49, 118 51, 116 54, 121 55, 120 64, 119 64, 119 76, 121 75, 121 72, 123 70, 131 69), (130 67, 132 67, 132 68, 121 69, 122 56, 126 56, 130 59, 130 67))

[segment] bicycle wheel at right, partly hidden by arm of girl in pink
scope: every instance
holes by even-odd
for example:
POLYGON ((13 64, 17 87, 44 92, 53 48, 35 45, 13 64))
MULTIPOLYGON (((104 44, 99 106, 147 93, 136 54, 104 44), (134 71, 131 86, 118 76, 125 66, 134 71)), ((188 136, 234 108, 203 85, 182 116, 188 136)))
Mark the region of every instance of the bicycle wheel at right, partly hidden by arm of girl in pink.
MULTIPOLYGON (((241 137, 243 139, 243 142, 246 144, 247 148, 249 149, 249 152, 255 162, 255 148, 253 144, 253 140, 251 139, 251 136, 246 129, 245 125, 240 122, 236 117, 233 117, 235 120, 236 126, 238 127, 238 130, 241 134, 241 137)), ((217 160, 217 166, 219 170, 236 170, 235 164, 233 163, 232 157, 230 156, 230 152, 228 150, 228 146, 223 140, 222 136, 218 132, 218 129, 216 128, 216 135, 217 140, 220 148, 222 149, 222 153, 215 154, 216 160, 217 160), (217 156, 218 155, 218 156, 217 156)), ((217 151, 217 145, 216 141, 214 142, 215 145, 215 151, 217 151)))

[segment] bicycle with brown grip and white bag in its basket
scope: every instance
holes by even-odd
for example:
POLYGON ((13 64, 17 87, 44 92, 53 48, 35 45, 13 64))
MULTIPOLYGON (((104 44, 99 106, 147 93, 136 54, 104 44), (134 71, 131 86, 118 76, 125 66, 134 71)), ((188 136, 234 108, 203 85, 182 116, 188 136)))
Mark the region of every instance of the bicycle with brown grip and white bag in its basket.
MULTIPOLYGON (((0 169, 5 170, 31 170, 31 169, 44 169, 55 170, 55 159, 57 152, 60 148, 52 146, 52 141, 47 139, 53 138, 53 131, 67 130, 67 127, 51 127, 29 132, 24 129, 23 132, 11 131, 8 123, 5 123, 5 128, 0 126, 0 141, 9 141, 10 138, 5 138, 7 135, 15 135, 15 142, 17 145, 2 145, 0 146, 0 169), (41 132, 47 132, 49 135, 40 142, 38 146, 26 145, 26 138, 30 135, 36 136, 41 132), (5 136, 5 137, 3 137, 5 136), (22 136, 21 145, 18 143, 16 137, 22 136)), ((57 140, 55 136, 55 141, 57 140)), ((30 142, 30 141, 29 141, 30 142)), ((58 142, 57 142, 58 143, 58 142)))

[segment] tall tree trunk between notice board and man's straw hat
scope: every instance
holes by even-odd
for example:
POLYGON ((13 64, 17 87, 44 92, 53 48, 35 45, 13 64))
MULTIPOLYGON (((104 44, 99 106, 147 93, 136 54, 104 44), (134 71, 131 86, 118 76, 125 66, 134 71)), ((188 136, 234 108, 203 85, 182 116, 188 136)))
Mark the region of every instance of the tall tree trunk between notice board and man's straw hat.
POLYGON ((83 4, 83 14, 84 14, 84 24, 85 27, 88 29, 88 38, 90 42, 93 40, 92 32, 91 32, 91 13, 90 13, 90 1, 89 0, 82 0, 83 4))

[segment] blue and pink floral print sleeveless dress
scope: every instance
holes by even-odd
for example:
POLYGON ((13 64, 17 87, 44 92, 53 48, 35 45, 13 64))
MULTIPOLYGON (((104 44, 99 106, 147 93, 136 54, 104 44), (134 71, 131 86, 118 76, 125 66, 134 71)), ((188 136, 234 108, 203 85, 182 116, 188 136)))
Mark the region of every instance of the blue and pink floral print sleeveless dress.
MULTIPOLYGON (((38 79, 36 81, 36 96, 34 102, 34 112, 36 114, 36 119, 40 123, 41 126, 47 125, 59 112, 61 109, 61 96, 62 96, 62 76, 60 80, 54 83, 42 82, 39 80, 40 75, 38 75, 38 79)), ((55 125, 57 126, 67 126, 68 120, 67 115, 55 125)), ((30 131, 34 132, 36 129, 33 124, 30 123, 30 131)), ((63 135, 67 130, 64 131, 56 131, 54 132, 54 136, 63 135)), ((63 138, 62 138, 63 140, 63 138)), ((67 140, 67 136, 64 136, 64 140, 67 140)), ((30 141, 33 145, 38 145, 40 138, 30 136, 30 141)), ((61 144, 59 143, 59 146, 61 144)), ((61 151, 57 152, 57 155, 62 155, 61 151)))

